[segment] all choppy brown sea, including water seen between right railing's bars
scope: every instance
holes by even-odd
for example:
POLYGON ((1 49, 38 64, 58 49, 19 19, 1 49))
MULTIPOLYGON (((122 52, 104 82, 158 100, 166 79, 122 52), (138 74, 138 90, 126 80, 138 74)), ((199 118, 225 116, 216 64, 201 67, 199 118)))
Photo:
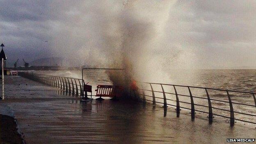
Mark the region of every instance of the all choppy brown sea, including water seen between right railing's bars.
MULTIPOLYGON (((81 71, 37 71, 39 73, 47 73, 49 75, 58 75, 58 76, 66 76, 72 78, 82 78, 81 71)), ((169 78, 166 78, 165 81, 167 84, 173 85, 185 85, 185 86, 196 86, 196 87, 209 87, 209 88, 218 88, 218 89, 228 89, 228 90, 237 90, 237 91, 256 91, 256 70, 173 70, 169 72, 169 78)), ((156 78, 157 79, 157 78, 156 78)), ((108 77, 106 71, 104 70, 87 70, 84 71, 84 80, 89 85, 93 86, 93 89, 96 89, 97 85, 112 85, 110 78, 108 77)), ((147 81, 145 82, 155 82, 158 81, 147 81)), ((159 80, 160 81, 160 80, 159 80)), ((141 89, 149 89, 151 90, 149 85, 139 85, 138 87, 141 89)), ((154 91, 162 91, 159 85, 153 85, 154 91)), ((165 92, 167 93, 175 93, 173 87, 164 86, 165 92)), ((176 87, 178 94, 189 95, 189 91, 187 87, 176 87)), ((144 91, 146 95, 152 96, 151 91, 144 91)), ((198 96, 202 98, 207 98, 205 89, 195 89, 191 88, 191 92, 193 96, 198 96)), ((142 91, 139 91, 142 94, 142 91)), ((215 91, 208 90, 210 98, 221 100, 221 101, 229 101, 226 91, 215 91)), ((248 105, 255 105, 254 98, 251 94, 243 94, 230 92, 232 102, 235 103, 244 103, 248 105)), ((155 93, 156 97, 163 97, 162 93, 155 93)), ((168 99, 168 104, 176 105, 176 97, 174 94, 166 94, 168 99)), ((152 100, 150 97, 146 97, 148 100, 152 100)), ((163 102, 162 99, 156 98, 156 101, 163 102)), ((179 96, 179 101, 190 103, 190 98, 185 96, 179 96)), ((208 101, 205 99, 194 98, 194 103, 199 105, 208 106, 208 101)), ((161 105, 161 104, 160 104, 161 105)), ((190 104, 180 103, 181 107, 190 108, 190 104)), ((213 109, 214 114, 221 114, 226 117, 230 117, 230 112, 225 110, 230 110, 229 103, 212 101, 212 106, 221 108, 224 110, 216 110, 213 109)), ((256 115, 256 107, 246 106, 246 105, 238 105, 233 104, 235 112, 243 112, 248 114, 256 115)), ((171 106, 169 106, 171 108, 171 106)), ((174 107, 175 108, 175 107, 174 107)), ((201 110, 208 112, 208 107, 201 107, 195 105, 196 110, 201 110)), ((189 111, 187 111, 189 113, 189 111)), ((196 115, 201 115, 206 117, 208 114, 197 112, 196 115)), ((242 119, 246 121, 256 122, 256 117, 235 113, 235 118, 242 119)), ((226 121, 228 122, 228 118, 218 118, 216 121, 226 121)), ((240 122, 240 121, 238 121, 240 122)))

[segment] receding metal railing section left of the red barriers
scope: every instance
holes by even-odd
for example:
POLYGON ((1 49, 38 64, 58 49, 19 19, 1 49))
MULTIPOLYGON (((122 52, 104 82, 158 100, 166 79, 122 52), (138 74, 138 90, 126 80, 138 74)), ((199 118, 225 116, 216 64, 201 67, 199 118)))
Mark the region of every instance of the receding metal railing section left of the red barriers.
POLYGON ((82 83, 85 85, 85 82, 82 79, 27 72, 19 72, 18 75, 51 87, 62 89, 72 95, 85 96, 82 90, 82 83))

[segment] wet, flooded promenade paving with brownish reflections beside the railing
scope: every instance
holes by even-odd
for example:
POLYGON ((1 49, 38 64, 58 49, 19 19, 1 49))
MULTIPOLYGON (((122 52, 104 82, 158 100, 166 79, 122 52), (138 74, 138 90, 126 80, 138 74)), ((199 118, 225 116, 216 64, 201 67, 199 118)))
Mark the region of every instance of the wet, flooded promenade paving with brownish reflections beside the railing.
POLYGON ((229 123, 188 111, 176 118, 164 110, 132 100, 87 101, 20 76, 7 76, 6 99, 27 144, 48 143, 226 143, 227 138, 255 138, 255 125, 229 123))

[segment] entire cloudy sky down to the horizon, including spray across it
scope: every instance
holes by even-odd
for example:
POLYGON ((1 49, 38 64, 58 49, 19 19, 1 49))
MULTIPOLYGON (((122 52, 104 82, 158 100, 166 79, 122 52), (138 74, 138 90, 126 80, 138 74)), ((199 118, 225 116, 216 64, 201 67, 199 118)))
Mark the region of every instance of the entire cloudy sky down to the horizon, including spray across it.
POLYGON ((0 0, 7 66, 256 69, 255 0, 0 0), (21 65, 22 62, 19 62, 21 65))

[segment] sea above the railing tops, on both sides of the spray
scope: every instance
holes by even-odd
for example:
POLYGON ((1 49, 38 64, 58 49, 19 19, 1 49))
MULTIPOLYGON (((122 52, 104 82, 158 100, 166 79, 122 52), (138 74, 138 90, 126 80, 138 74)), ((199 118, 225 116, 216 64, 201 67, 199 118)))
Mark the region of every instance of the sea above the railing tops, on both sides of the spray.
MULTIPOLYGON (((49 75, 82 78, 81 71, 37 71, 49 75)), ((111 83, 105 70, 86 70, 84 79, 89 83, 111 83)), ((168 84, 211 87, 219 89, 256 91, 256 70, 174 70, 168 84)), ((145 82, 158 82, 148 81, 145 82)))

